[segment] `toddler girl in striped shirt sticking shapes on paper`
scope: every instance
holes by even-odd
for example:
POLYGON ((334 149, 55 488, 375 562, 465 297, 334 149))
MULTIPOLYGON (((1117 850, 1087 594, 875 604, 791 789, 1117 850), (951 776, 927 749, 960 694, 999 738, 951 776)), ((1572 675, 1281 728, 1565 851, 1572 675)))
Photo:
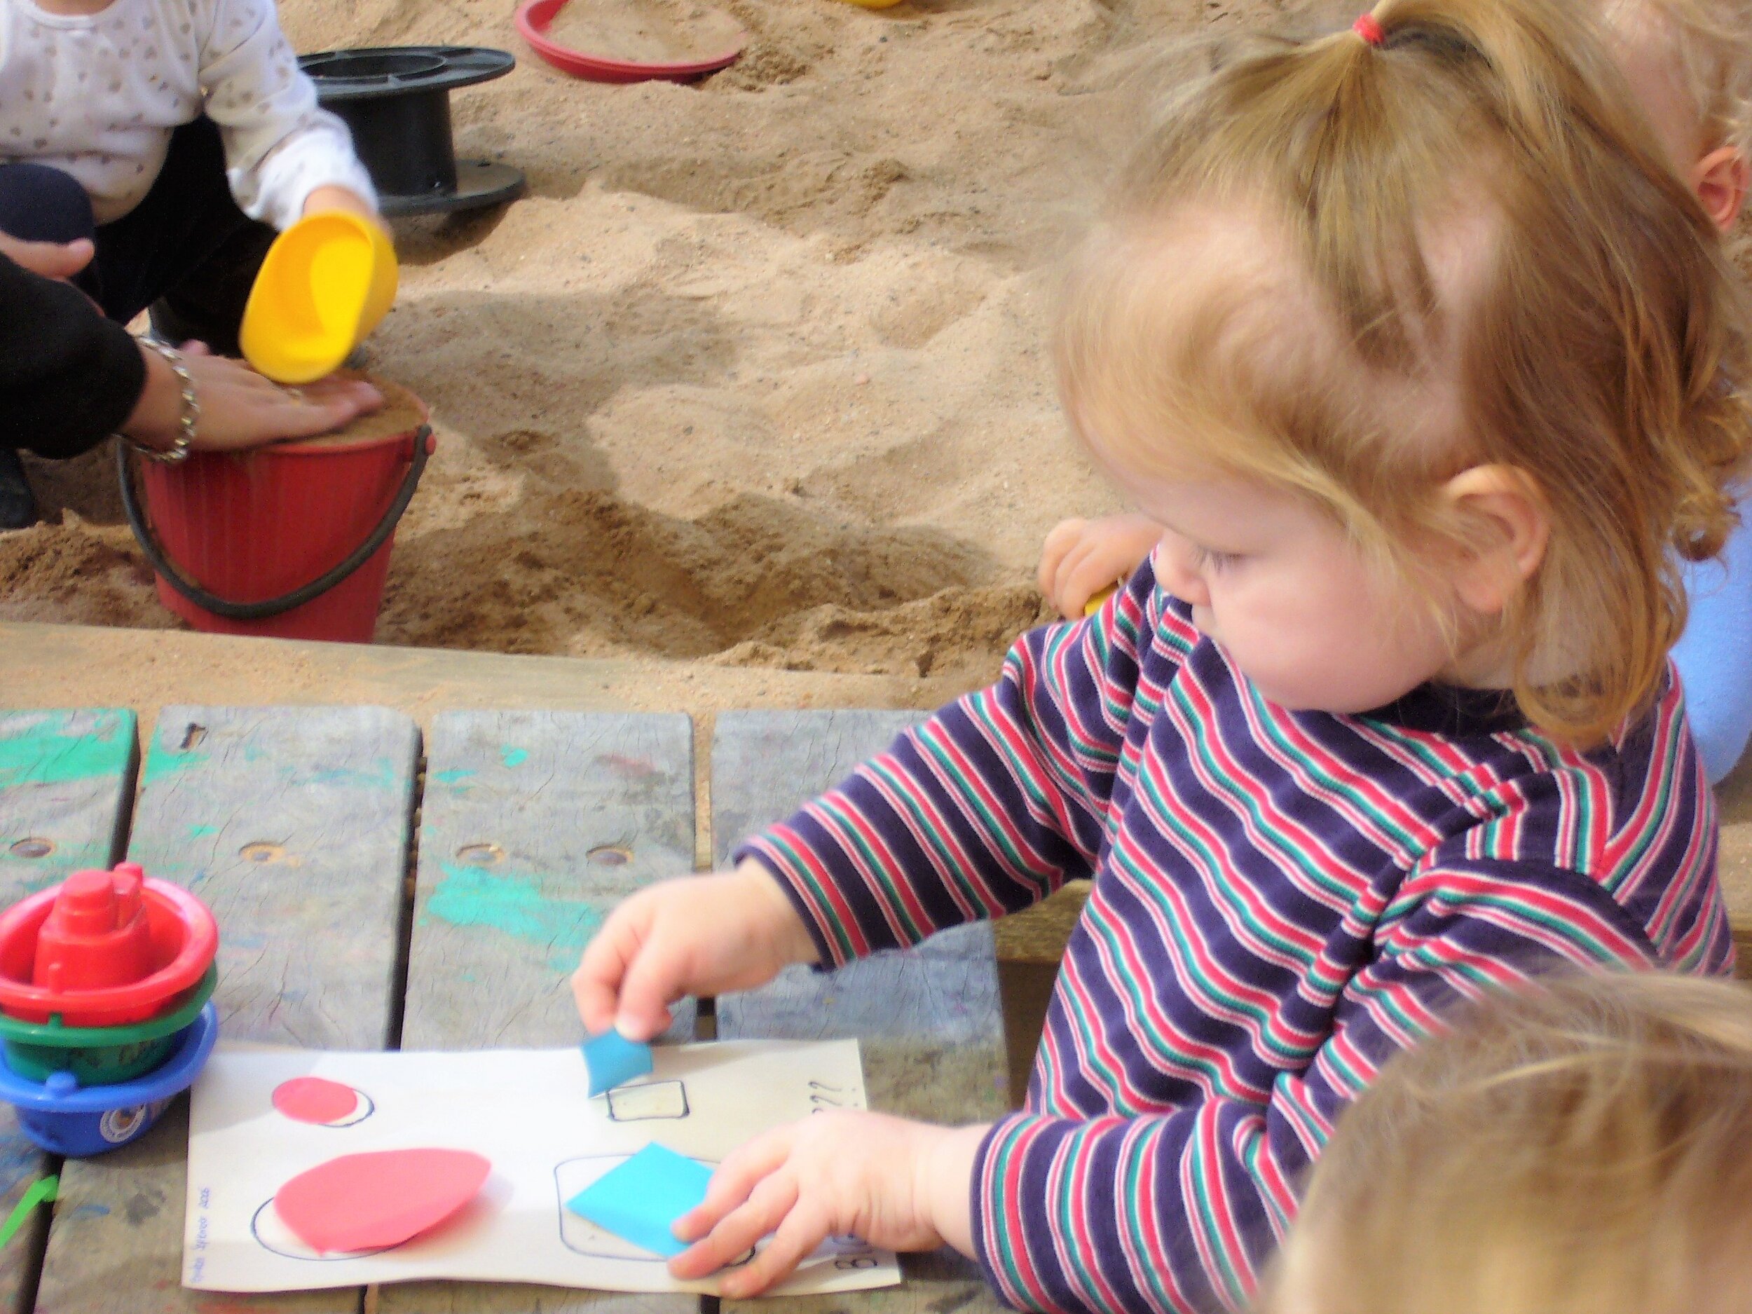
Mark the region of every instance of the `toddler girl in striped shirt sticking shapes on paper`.
POLYGON ((1056 357, 1163 526, 1095 617, 750 841, 575 978, 652 1035, 1093 876, 1023 1113, 820 1116, 673 1261, 948 1242, 1048 1310, 1239 1307, 1340 1111, 1456 997, 1722 972, 1666 652, 1752 450, 1738 284, 1565 7, 1386 0, 1191 88, 1069 279, 1056 357))

